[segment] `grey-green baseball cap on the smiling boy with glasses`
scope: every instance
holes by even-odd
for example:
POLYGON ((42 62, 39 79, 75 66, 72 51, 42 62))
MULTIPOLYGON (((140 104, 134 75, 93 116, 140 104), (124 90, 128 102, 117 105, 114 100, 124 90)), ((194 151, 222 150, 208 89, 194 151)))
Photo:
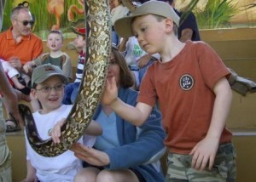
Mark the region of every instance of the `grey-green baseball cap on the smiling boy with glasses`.
POLYGON ((68 82, 68 79, 65 75, 63 75, 61 69, 58 66, 51 64, 39 65, 32 72, 31 84, 32 88, 34 88, 35 84, 39 84, 44 82, 49 77, 59 76, 63 80, 63 82, 68 82))

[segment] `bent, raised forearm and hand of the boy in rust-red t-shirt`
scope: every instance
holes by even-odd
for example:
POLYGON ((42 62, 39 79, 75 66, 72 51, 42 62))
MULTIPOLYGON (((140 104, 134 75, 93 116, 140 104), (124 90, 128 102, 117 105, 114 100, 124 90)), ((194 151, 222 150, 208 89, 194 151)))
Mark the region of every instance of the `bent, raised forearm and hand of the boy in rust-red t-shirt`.
POLYGON ((115 77, 107 80, 106 88, 102 96, 102 103, 110 105, 119 117, 122 117, 131 124, 141 126, 148 118, 152 107, 144 103, 137 103, 136 107, 125 104, 118 98, 118 88, 116 86, 115 77))

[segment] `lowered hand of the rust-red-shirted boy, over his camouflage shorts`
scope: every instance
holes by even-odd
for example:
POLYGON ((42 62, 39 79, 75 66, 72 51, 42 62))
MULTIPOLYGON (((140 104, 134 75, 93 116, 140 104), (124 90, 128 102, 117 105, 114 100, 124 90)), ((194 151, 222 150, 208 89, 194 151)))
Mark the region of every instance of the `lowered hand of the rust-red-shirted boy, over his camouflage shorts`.
POLYGON ((218 141, 219 139, 206 137, 195 145, 189 153, 189 155, 193 155, 191 167, 196 170, 204 170, 208 164, 208 169, 211 170, 218 150, 218 141))

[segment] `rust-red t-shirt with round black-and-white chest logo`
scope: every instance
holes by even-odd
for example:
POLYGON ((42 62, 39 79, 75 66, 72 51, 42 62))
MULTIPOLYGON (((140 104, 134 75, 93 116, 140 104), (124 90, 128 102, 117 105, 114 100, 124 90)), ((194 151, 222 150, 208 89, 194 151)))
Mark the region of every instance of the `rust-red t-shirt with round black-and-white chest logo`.
MULTIPOLYGON (((173 60, 155 62, 148 68, 140 87, 139 102, 160 102, 168 149, 189 154, 207 135, 215 95, 212 91, 221 77, 228 77, 218 54, 206 43, 187 42, 173 60)), ((232 134, 224 128, 220 143, 230 142, 232 134)))

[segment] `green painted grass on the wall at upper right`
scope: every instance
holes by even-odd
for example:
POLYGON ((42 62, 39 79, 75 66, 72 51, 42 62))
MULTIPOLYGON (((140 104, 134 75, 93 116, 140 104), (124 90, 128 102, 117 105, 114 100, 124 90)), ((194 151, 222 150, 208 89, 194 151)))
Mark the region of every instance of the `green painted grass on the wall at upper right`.
POLYGON ((230 19, 238 12, 231 0, 208 0, 204 9, 194 9, 199 28, 221 28, 230 26, 230 19))

